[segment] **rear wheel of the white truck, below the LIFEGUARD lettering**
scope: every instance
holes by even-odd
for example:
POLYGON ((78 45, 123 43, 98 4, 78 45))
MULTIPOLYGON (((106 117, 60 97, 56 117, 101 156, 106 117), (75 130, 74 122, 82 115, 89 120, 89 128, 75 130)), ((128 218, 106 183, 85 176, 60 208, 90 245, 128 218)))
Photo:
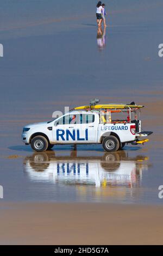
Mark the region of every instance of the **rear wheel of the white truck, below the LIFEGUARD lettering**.
POLYGON ((115 152, 120 147, 120 143, 115 136, 108 136, 103 140, 103 148, 108 152, 115 152))

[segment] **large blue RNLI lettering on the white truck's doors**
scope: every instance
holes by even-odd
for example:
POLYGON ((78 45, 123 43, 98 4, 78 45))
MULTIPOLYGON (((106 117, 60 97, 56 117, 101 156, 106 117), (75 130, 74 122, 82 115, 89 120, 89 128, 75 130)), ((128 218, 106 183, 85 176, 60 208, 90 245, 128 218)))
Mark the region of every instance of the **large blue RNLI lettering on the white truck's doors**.
POLYGON ((80 136, 80 131, 79 129, 75 130, 73 129, 72 132, 70 130, 62 130, 62 129, 57 129, 57 141, 88 141, 88 131, 85 129, 85 136, 81 137, 80 136))

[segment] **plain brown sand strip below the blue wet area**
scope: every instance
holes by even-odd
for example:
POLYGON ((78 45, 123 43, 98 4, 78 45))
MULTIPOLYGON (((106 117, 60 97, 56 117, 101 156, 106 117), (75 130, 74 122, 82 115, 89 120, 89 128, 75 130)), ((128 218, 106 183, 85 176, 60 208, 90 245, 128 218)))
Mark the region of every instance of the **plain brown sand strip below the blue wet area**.
POLYGON ((159 245, 162 206, 1 203, 0 243, 159 245))

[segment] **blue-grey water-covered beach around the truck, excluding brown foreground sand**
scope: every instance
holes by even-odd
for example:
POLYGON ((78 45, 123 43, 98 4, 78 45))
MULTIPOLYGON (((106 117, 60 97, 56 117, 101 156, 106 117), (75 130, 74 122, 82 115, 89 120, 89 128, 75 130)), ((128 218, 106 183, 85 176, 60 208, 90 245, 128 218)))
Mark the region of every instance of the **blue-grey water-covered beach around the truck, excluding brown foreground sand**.
POLYGON ((162 2, 110 2, 106 30, 96 27, 92 0, 90 9, 70 1, 71 11, 64 1, 62 13, 54 1, 2 2, 3 200, 162 204, 162 2), (142 124, 154 131, 151 142, 112 154, 101 145, 37 154, 21 144, 24 125, 93 97, 147 105, 142 124))

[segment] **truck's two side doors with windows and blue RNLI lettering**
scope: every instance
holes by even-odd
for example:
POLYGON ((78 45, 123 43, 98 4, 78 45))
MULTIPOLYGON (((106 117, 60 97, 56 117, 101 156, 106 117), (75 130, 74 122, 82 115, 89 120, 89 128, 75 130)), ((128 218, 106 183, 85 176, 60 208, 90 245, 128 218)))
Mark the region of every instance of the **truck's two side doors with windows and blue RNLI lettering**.
POLYGON ((54 143, 96 143, 97 120, 95 114, 66 114, 55 120, 54 143))

